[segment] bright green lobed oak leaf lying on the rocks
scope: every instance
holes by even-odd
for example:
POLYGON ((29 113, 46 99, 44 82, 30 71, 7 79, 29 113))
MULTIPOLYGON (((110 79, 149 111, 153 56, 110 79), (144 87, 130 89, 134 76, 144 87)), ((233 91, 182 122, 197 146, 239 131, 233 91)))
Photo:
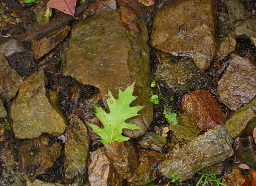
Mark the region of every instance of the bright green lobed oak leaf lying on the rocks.
POLYGON ((118 99, 115 99, 110 91, 108 91, 109 98, 106 99, 109 113, 106 113, 101 107, 95 105, 96 116, 103 124, 103 128, 89 123, 93 131, 97 133, 102 144, 110 144, 115 141, 121 142, 130 139, 129 137, 121 135, 123 128, 132 130, 140 129, 134 123, 126 123, 125 121, 134 116, 138 116, 138 112, 143 106, 130 107, 130 104, 136 100, 133 96, 134 83, 128 86, 125 91, 118 89, 118 99))

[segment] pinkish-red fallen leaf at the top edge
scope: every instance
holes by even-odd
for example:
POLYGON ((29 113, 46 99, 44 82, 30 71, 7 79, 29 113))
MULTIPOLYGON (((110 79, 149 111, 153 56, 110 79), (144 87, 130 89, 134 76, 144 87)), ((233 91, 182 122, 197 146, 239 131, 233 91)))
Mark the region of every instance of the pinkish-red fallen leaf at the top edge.
POLYGON ((75 16, 77 0, 50 0, 47 3, 47 7, 57 9, 70 16, 75 16))

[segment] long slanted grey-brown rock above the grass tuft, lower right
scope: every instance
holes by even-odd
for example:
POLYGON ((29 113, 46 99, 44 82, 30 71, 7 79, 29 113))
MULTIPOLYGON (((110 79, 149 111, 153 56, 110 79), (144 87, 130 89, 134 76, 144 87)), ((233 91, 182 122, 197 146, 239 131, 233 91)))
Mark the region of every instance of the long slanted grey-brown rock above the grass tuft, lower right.
POLYGON ((161 172, 172 178, 177 171, 180 179, 187 180, 197 171, 224 161, 232 154, 232 140, 228 131, 222 125, 216 126, 176 150, 162 163, 161 172))

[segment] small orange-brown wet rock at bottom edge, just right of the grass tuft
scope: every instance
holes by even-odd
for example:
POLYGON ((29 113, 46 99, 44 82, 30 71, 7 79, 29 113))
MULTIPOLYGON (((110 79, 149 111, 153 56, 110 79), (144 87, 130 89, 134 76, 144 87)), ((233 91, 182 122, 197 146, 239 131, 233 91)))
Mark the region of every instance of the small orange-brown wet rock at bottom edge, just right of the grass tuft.
POLYGON ((232 167, 232 172, 229 176, 223 177, 222 183, 226 185, 243 185, 249 186, 249 177, 241 173, 241 168, 238 165, 232 167))

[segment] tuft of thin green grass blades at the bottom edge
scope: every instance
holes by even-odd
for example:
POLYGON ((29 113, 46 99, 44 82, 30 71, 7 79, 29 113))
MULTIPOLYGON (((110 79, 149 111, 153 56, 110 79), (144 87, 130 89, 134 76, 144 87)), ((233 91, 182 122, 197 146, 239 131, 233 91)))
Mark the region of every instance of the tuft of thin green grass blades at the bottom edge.
POLYGON ((221 180, 223 177, 230 175, 230 174, 227 174, 227 175, 221 176, 220 178, 217 178, 217 173, 201 173, 201 172, 197 172, 197 173, 200 174, 201 177, 197 181, 196 186, 199 186, 199 185, 204 186, 206 185, 206 183, 209 183, 209 182, 214 182, 216 183, 217 186, 220 186, 220 185, 227 186, 226 184, 222 183, 221 180))

